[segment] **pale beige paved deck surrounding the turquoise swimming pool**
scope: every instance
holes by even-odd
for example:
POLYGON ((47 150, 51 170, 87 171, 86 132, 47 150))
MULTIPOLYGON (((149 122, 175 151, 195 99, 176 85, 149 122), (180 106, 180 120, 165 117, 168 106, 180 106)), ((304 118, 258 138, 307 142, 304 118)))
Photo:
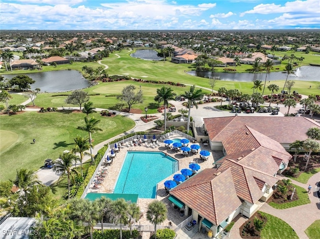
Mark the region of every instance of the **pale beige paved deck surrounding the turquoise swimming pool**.
MULTIPOLYGON (((176 139, 176 138, 181 138, 181 136, 173 135, 170 137, 170 139, 176 139)), ((189 145, 191 145, 191 144, 192 143, 190 142, 189 145)), ((195 143, 195 144, 198 144, 198 143, 195 143)), ((202 144, 200 145, 200 147, 201 148, 198 150, 198 152, 200 152, 200 150, 207 150, 207 151, 211 152, 211 155, 209 156, 209 158, 206 161, 200 160, 198 153, 195 155, 190 154, 189 156, 184 157, 180 153, 176 153, 170 149, 166 149, 166 147, 164 146, 164 143, 161 141, 160 141, 160 146, 157 146, 156 148, 150 148, 150 147, 146 147, 144 145, 129 146, 129 147, 124 146, 124 147, 120 148, 119 152, 116 153, 116 156, 113 159, 112 164, 110 166, 108 166, 108 168, 107 168, 108 172, 107 172, 107 174, 101 184, 101 187, 98 190, 92 190, 89 192, 98 192, 98 193, 112 193, 113 192, 113 189, 116 184, 116 180, 117 180, 118 175, 120 173, 120 170, 121 170, 121 167, 122 167, 122 164, 125 159, 127 151, 154 151, 154 152, 166 153, 167 155, 169 155, 170 157, 172 157, 178 161, 179 170, 184 169, 184 168, 188 168, 188 165, 190 162, 191 163, 193 163, 193 162, 198 163, 200 165, 199 171, 201 171, 202 169, 206 169, 206 168, 212 168, 213 167, 212 163, 214 161, 220 159, 223 156, 221 151, 211 151, 208 146, 203 146, 202 144)), ((178 172, 176 172, 176 173, 178 173, 178 172)), ((174 174, 176 174, 176 173, 174 173, 174 174)), ((187 215, 184 217, 180 217, 177 209, 174 209, 171 206, 171 203, 169 203, 168 195, 165 193, 163 183, 166 180, 172 180, 174 174, 163 179, 157 185, 156 199, 165 203, 167 205, 167 210, 168 210, 167 219, 165 220, 165 222, 163 222, 161 224, 162 226, 168 226, 169 222, 172 223, 172 226, 176 226, 188 217, 187 215)), ((140 225, 150 225, 150 223, 146 220, 145 212, 147 211, 148 204, 150 202, 152 202, 153 200, 154 199, 140 199, 140 198, 138 199, 138 205, 139 205, 140 210, 143 214, 143 217, 141 217, 141 219, 138 222, 140 225)))

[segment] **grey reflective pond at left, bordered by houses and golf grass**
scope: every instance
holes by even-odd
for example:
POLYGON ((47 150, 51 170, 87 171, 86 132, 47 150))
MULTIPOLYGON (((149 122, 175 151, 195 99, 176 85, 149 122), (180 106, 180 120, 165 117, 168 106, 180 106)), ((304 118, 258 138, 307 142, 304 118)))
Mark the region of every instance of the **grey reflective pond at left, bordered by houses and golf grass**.
MULTIPOLYGON (((11 79, 17 74, 3 74, 5 79, 11 79)), ((21 75, 21 74, 20 74, 21 75)), ((63 92, 70 90, 78 90, 89 87, 91 84, 83 75, 77 70, 55 70, 45 72, 26 73, 35 80, 31 84, 31 90, 35 88, 41 89, 41 92, 63 92)))

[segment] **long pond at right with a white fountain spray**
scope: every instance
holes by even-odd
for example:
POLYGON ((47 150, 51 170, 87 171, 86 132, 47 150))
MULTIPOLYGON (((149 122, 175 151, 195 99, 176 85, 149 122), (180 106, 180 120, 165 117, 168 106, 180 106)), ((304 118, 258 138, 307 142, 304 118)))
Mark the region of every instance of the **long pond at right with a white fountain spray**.
MULTIPOLYGON (((233 67, 231 67, 233 69, 233 67)), ((254 73, 227 73, 227 72, 211 72, 211 71, 188 71, 189 75, 199 76, 204 78, 217 78, 226 81, 252 81, 254 80, 254 73)), ((305 81, 320 81, 320 67, 318 66, 301 66, 291 74, 288 80, 305 80, 305 81)), ((286 73, 270 72, 266 80, 285 80, 286 73)), ((264 81, 265 72, 256 73, 256 79, 264 81)))

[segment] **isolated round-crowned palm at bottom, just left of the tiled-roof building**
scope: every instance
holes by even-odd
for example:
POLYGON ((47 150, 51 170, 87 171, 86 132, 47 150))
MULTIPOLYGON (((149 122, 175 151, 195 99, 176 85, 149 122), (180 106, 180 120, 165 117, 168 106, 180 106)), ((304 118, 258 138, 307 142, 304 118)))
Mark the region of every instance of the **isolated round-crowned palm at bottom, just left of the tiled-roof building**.
POLYGON ((148 205, 146 219, 154 225, 154 238, 156 239, 156 225, 166 219, 167 209, 164 203, 154 200, 148 205))

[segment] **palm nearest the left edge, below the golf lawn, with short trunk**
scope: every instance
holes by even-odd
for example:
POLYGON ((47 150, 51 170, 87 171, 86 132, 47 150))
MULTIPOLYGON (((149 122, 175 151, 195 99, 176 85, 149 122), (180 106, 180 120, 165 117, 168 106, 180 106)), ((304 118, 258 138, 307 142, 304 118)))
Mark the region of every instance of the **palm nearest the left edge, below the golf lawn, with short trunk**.
POLYGON ((36 184, 41 184, 34 170, 20 169, 16 170, 15 179, 12 183, 23 191, 25 196, 25 205, 27 204, 27 189, 36 184))

